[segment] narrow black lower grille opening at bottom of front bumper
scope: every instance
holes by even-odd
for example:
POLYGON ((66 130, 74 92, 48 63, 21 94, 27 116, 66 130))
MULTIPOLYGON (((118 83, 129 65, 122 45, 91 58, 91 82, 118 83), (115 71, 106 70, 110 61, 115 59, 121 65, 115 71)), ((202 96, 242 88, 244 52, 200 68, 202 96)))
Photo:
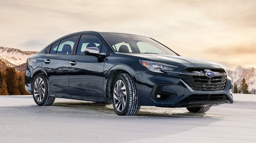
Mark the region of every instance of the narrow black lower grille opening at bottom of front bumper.
POLYGON ((226 94, 193 94, 185 98, 182 102, 220 101, 220 100, 228 100, 226 94))

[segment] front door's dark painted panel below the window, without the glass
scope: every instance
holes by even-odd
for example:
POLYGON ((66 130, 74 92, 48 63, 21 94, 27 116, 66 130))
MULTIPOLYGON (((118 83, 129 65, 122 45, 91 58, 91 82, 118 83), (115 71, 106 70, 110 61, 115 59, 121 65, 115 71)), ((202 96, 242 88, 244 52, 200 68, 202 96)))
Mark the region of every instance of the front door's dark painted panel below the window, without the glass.
POLYGON ((103 97, 104 60, 95 56, 73 55, 68 66, 69 94, 103 97))

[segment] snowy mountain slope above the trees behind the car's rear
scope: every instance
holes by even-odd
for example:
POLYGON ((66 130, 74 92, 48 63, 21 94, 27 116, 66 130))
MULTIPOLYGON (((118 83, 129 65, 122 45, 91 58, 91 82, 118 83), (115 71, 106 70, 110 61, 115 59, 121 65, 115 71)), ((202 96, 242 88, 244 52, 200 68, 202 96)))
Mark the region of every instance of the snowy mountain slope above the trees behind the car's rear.
POLYGON ((17 71, 25 71, 27 58, 37 52, 22 51, 15 48, 0 47, 0 70, 15 67, 17 71))

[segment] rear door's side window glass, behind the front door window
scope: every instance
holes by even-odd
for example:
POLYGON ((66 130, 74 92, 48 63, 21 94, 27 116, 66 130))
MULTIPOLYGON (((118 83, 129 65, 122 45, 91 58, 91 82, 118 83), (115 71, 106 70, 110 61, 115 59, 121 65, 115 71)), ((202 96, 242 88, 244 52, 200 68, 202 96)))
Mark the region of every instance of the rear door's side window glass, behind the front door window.
MULTIPOLYGON (((56 54, 71 54, 75 46, 77 36, 72 36, 60 41, 56 54)), ((54 49, 53 49, 54 50, 54 49)))

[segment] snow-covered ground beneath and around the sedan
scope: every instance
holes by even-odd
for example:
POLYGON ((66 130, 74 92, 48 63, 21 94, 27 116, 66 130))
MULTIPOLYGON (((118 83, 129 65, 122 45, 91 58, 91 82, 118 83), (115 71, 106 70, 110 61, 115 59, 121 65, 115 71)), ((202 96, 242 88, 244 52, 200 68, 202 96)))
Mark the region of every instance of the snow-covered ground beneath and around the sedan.
POLYGON ((56 98, 37 106, 32 96, 0 96, 0 142, 255 143, 256 95, 233 96, 204 114, 142 106, 137 116, 117 116, 112 104, 56 98))

